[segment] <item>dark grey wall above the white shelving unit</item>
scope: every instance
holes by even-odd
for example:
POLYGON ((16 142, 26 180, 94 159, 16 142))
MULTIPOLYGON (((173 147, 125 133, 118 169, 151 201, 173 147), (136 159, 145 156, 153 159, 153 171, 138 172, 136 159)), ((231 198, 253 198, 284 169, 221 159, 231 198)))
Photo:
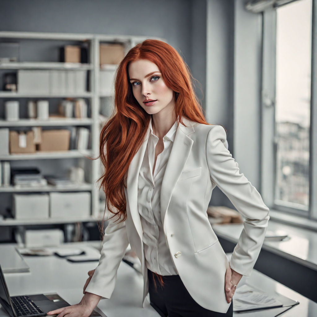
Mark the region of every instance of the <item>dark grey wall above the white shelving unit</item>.
POLYGON ((0 1, 1 31, 165 38, 190 65, 191 0, 0 1))

